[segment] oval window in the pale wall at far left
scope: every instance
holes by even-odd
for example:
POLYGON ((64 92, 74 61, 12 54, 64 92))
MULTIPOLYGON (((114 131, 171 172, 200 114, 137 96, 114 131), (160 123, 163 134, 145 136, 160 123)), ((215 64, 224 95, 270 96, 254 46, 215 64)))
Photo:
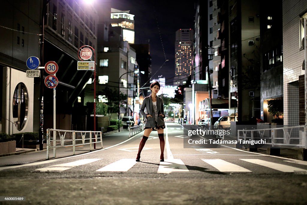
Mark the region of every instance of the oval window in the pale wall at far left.
POLYGON ((28 91, 25 84, 18 83, 13 95, 13 120, 20 131, 28 119, 28 91))

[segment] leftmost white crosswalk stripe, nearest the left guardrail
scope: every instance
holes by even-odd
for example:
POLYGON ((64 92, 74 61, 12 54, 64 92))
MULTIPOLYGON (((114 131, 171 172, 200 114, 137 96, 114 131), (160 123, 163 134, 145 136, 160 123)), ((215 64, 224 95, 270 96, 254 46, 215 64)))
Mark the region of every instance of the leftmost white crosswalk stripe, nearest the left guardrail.
POLYGON ((74 162, 69 162, 69 163, 65 163, 65 164, 56 164, 56 165, 52 165, 49 167, 45 167, 45 168, 40 168, 40 169, 36 169, 35 171, 65 171, 80 165, 84 165, 84 164, 88 164, 88 163, 92 163, 98 160, 102 160, 102 159, 82 159, 82 160, 77 160, 74 162))

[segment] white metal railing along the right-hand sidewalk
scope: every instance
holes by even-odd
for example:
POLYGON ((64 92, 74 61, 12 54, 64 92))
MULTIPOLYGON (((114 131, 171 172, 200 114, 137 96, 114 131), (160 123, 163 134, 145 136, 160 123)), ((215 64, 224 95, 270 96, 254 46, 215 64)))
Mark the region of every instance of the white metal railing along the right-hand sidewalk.
POLYGON ((266 144, 271 145, 272 147, 307 148, 305 132, 305 125, 267 129, 243 129, 238 130, 238 141, 239 139, 265 140, 266 144))

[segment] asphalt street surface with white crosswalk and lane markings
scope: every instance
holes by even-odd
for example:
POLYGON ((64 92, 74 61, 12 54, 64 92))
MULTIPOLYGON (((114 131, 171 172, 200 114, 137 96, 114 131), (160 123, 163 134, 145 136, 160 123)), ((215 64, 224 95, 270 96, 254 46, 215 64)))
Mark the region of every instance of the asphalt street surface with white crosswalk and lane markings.
POLYGON ((307 162, 236 148, 184 148, 182 126, 166 125, 165 162, 157 132, 135 162, 143 132, 128 138, 127 131, 106 136, 103 149, 76 156, 2 157, 0 196, 24 201, 0 204, 307 203, 307 162))

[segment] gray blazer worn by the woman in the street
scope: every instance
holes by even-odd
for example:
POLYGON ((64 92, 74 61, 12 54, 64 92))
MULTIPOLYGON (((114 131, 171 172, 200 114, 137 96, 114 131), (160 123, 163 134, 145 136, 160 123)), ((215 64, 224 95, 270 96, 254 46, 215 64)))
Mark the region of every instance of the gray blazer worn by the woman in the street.
MULTIPOLYGON (((163 120, 165 118, 163 99, 158 96, 157 96, 157 111, 158 111, 157 126, 165 125, 163 120), (163 114, 163 117, 160 114, 163 114)), ((143 104, 140 109, 140 113, 142 114, 142 116, 146 118, 145 127, 148 128, 156 127, 154 121, 153 101, 151 99, 151 95, 144 98, 143 104), (145 108, 146 108, 146 113, 144 111, 145 108), (147 115, 151 115, 153 117, 147 117, 147 115)))

